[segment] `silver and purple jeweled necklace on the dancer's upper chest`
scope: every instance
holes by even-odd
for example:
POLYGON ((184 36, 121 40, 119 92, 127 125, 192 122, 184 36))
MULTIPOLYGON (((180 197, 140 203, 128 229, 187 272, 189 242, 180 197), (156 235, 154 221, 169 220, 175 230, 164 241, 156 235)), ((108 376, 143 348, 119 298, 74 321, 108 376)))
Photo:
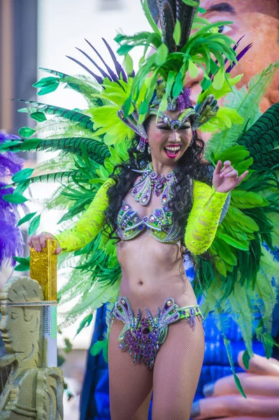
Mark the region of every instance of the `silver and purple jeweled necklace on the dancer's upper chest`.
POLYGON ((131 190, 131 195, 136 202, 141 203, 142 206, 147 206, 153 192, 157 197, 162 194, 161 204, 169 203, 173 197, 173 183, 176 182, 176 176, 173 171, 166 175, 159 175, 153 171, 152 165, 149 164, 148 168, 142 173, 143 176, 131 190))

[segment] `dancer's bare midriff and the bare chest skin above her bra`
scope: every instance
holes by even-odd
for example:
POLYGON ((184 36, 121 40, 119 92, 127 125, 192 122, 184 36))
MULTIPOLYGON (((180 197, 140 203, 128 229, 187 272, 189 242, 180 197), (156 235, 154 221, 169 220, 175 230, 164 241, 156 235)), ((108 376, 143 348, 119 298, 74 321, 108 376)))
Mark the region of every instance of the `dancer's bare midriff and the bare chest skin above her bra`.
MULTIPOLYGON (((152 197, 146 207, 131 195, 125 197, 125 202, 141 217, 161 206, 158 197, 152 197)), ((134 239, 118 242, 117 259, 122 269, 120 295, 127 296, 135 316, 138 309, 146 316, 145 307, 155 316, 168 297, 173 297, 180 307, 196 304, 194 290, 185 275, 180 243, 164 244, 145 230, 134 239)))

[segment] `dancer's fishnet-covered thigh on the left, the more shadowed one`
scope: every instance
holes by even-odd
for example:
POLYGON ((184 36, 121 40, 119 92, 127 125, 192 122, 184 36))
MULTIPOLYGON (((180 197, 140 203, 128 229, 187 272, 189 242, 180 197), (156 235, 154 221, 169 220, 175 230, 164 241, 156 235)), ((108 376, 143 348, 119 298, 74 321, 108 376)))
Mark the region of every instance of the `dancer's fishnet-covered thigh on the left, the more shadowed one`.
POLYGON ((152 371, 134 364, 129 351, 119 349, 124 324, 115 318, 108 344, 110 416, 112 420, 147 420, 152 391, 152 371))

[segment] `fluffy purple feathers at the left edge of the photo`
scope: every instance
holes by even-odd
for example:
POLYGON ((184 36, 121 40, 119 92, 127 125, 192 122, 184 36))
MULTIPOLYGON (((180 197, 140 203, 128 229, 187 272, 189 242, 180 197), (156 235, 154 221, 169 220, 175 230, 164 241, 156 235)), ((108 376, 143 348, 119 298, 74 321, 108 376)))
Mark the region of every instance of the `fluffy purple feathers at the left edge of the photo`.
MULTIPOLYGON (((0 144, 5 141, 20 139, 17 136, 9 136, 0 132, 0 144)), ((15 153, 0 153, 0 267, 3 262, 15 266, 14 255, 22 255, 23 240, 20 229, 17 227, 17 204, 3 200, 3 195, 13 194, 13 188, 7 186, 5 180, 22 169, 24 160, 18 158, 15 153)))

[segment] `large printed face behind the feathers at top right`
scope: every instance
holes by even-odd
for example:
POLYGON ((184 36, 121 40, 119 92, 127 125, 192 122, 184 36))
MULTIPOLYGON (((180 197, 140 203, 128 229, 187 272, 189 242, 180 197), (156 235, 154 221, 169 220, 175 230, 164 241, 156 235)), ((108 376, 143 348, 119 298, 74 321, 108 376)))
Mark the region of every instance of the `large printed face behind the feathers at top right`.
MULTIPOLYGON (((201 0, 201 7, 207 11, 202 17, 210 22, 229 20, 234 23, 220 28, 223 34, 234 41, 241 40, 237 51, 252 43, 252 48, 231 71, 231 76, 243 73, 238 84, 247 84, 252 76, 279 59, 279 1, 278 0, 201 0)), ((197 82, 198 80, 196 80, 197 82)), ((197 83, 192 82, 193 94, 197 83)), ((279 72, 262 101, 261 109, 266 111, 272 104, 279 102, 279 72)))

